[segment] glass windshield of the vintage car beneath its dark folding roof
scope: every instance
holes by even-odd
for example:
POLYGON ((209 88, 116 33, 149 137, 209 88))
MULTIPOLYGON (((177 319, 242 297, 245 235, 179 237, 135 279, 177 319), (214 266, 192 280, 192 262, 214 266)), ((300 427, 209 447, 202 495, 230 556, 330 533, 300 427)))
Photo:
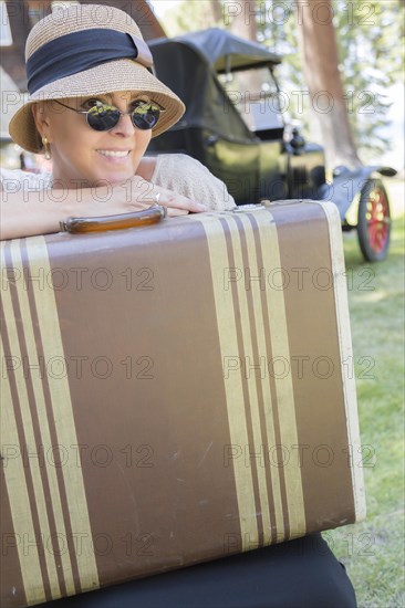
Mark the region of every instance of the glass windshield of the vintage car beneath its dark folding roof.
POLYGON ((250 130, 283 126, 276 82, 268 67, 228 72, 218 78, 250 130))

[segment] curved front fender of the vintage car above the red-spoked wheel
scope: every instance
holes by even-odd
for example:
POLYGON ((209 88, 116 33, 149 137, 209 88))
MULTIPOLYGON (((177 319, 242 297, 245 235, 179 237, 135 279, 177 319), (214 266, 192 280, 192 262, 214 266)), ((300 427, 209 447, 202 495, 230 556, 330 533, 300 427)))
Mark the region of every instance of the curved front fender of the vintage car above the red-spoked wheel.
POLYGON ((341 220, 345 220, 352 226, 356 224, 356 209, 359 206, 360 193, 368 179, 376 178, 378 175, 393 177, 396 170, 392 167, 384 166, 367 166, 359 169, 347 169, 347 167, 338 167, 334 171, 332 182, 322 184, 318 188, 319 200, 330 200, 334 202, 339 209, 341 220), (349 221, 346 216, 353 220, 349 221))

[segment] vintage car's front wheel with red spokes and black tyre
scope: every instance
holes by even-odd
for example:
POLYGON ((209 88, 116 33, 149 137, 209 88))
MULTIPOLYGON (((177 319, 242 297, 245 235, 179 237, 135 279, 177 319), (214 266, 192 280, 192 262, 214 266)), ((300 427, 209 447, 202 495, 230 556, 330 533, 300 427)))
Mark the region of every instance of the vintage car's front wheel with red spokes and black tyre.
POLYGON ((390 247, 390 201, 381 179, 370 179, 359 202, 359 244, 367 262, 385 260, 390 247))

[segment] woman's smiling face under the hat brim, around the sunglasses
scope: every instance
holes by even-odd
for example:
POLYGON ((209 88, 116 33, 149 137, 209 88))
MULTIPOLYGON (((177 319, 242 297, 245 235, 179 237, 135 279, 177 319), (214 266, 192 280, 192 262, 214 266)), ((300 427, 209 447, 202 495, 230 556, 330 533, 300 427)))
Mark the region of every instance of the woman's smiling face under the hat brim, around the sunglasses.
MULTIPOLYGON (((139 99, 146 101, 147 96, 120 92, 61 102, 79 111, 103 103, 125 113, 139 99)), ((121 116, 111 130, 95 130, 87 125, 85 115, 52 101, 35 104, 33 114, 39 133, 50 144, 53 179, 61 180, 61 187, 66 188, 117 184, 132 178, 152 137, 152 129, 135 127, 128 115, 121 116)))

